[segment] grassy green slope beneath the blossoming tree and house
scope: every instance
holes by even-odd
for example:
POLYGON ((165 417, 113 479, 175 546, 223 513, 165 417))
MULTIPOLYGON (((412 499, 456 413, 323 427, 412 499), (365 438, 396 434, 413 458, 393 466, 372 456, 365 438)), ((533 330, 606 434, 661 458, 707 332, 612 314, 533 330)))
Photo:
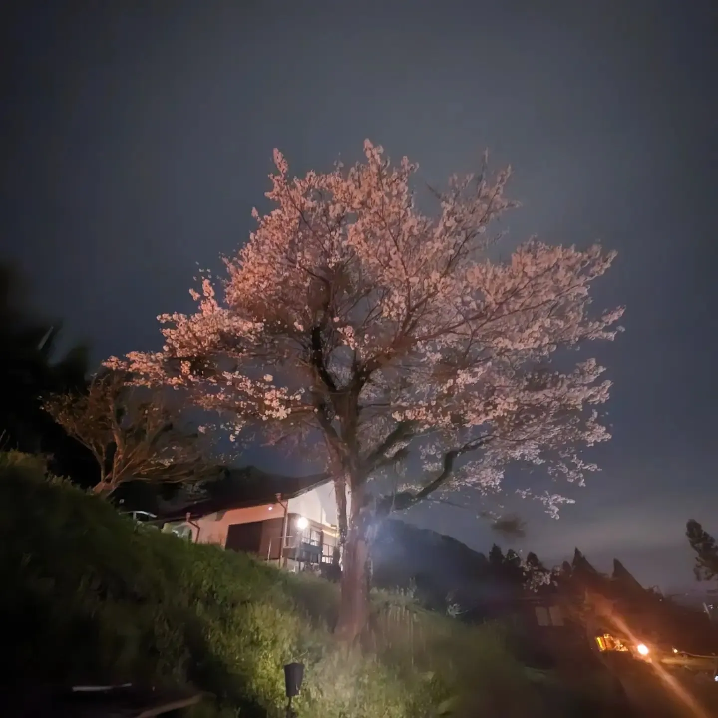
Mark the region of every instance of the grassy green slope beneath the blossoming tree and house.
POLYGON ((48 481, 32 457, 0 454, 0 507, 9 684, 194 684, 215 696, 198 715, 271 717, 284 704, 281 666, 299 660, 300 716, 523 718, 553 703, 493 628, 382 595, 365 648, 348 651, 328 630, 332 584, 137 526, 48 481))

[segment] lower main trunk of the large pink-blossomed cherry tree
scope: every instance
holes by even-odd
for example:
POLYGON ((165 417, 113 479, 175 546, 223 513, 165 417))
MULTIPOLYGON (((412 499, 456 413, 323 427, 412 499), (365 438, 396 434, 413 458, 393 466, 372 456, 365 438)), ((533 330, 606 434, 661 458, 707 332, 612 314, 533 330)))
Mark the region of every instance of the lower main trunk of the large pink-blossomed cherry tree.
POLYGON ((365 505, 363 490, 352 491, 350 521, 342 554, 341 596, 337 637, 353 643, 369 618, 370 526, 373 512, 365 505))

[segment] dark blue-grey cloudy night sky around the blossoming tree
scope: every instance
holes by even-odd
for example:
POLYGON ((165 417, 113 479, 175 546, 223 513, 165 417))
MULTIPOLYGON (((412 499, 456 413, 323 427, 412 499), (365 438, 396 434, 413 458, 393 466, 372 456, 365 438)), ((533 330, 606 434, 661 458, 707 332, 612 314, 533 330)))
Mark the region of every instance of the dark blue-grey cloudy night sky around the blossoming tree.
MULTIPOLYGON (((513 241, 617 249, 596 304, 628 307, 597 348, 615 381, 603 471, 559 521, 509 502, 528 517, 516 548, 689 582, 686 520, 718 532, 712 1, 6 5, 0 257, 68 341, 98 362, 159 348, 196 263, 266 210, 275 146, 303 174, 369 137, 434 184, 488 147, 515 170, 513 241)), ((410 518, 485 550, 475 510, 410 518)))

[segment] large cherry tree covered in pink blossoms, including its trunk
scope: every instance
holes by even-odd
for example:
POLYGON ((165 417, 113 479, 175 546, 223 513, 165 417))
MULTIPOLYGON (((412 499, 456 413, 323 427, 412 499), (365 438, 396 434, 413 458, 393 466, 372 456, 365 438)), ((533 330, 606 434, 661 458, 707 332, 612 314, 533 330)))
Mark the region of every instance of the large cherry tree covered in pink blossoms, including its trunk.
MULTIPOLYGON (((581 451, 610 438, 597 411, 610 382, 593 359, 566 371, 550 361, 614 337, 622 310, 589 315, 589 286, 615 254, 532 239, 493 259, 490 226, 516 203, 510 171, 490 177, 485 162, 431 190, 434 217, 417 206, 416 164, 391 164, 370 141, 348 170, 291 178, 276 150, 274 162, 276 206, 253 211, 258 228, 224 259, 223 284, 192 291, 194 314, 159 317, 162 351, 108 365, 187 391, 236 435, 311 442, 337 497, 337 630, 350 640, 365 622, 376 512, 458 486, 493 490, 510 464, 579 483, 596 469, 581 451), (373 489, 406 467, 414 481, 373 489)), ((552 511, 564 500, 543 498, 552 511)))

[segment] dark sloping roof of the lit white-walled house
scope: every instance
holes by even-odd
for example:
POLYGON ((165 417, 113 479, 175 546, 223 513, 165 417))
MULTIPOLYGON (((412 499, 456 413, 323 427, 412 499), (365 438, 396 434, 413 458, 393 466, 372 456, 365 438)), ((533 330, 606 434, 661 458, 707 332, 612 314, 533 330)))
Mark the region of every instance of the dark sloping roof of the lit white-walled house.
POLYGON ((220 467, 220 475, 210 482, 206 495, 194 500, 185 495, 160 502, 157 518, 178 521, 188 513, 191 518, 201 518, 217 511, 276 503, 277 498, 286 501, 325 484, 327 480, 326 474, 284 476, 264 472, 254 466, 241 469, 220 467))

